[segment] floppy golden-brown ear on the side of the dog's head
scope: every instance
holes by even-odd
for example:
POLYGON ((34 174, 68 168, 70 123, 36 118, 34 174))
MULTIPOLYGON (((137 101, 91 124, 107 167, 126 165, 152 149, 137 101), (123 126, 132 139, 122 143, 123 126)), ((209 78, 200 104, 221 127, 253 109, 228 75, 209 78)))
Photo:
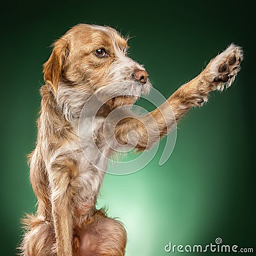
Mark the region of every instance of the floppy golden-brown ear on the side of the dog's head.
POLYGON ((63 66, 67 60, 69 53, 69 45, 67 40, 60 38, 54 43, 54 48, 52 54, 44 63, 44 81, 50 83, 54 93, 57 92, 58 83, 60 81, 60 76, 63 72, 63 66))

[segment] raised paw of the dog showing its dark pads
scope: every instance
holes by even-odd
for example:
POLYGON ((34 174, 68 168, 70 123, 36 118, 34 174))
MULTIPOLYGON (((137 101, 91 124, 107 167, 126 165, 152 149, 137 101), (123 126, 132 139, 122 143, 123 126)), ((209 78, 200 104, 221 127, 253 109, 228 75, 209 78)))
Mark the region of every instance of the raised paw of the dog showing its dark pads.
POLYGON ((237 72, 240 70, 240 63, 243 60, 243 51, 241 47, 230 44, 228 48, 210 61, 205 70, 209 72, 214 90, 223 90, 228 88, 237 72))

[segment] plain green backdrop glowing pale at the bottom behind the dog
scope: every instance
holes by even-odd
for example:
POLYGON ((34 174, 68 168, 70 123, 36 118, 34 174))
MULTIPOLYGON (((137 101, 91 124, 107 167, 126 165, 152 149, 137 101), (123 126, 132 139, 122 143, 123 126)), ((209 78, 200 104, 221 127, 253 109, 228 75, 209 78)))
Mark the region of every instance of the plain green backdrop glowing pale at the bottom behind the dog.
POLYGON ((140 172, 106 175, 99 206, 108 205, 109 215, 124 222, 127 255, 172 255, 164 252, 169 241, 209 244, 216 237, 223 244, 256 250, 254 15, 246 1, 5 2, 0 254, 14 255, 22 234, 20 218, 35 210, 26 154, 36 140, 42 64, 53 40, 77 23, 105 24, 134 36, 131 58, 145 65, 165 97, 231 42, 243 47, 236 82, 227 92, 212 93, 206 106, 182 119, 167 163, 158 165, 158 152, 140 172))

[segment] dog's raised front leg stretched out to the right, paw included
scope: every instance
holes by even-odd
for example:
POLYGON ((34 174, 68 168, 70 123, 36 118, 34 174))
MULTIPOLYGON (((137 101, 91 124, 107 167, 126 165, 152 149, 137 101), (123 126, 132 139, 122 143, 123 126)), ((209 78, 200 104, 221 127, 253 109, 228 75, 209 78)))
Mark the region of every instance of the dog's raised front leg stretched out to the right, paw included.
POLYGON ((121 145, 136 141, 136 148, 139 150, 152 147, 189 109, 202 106, 210 92, 228 88, 240 69, 241 60, 241 48, 231 44, 212 59, 195 79, 180 86, 159 108, 148 115, 120 121, 115 127, 116 140, 121 145), (136 138, 131 138, 134 134, 131 131, 136 132, 136 138))

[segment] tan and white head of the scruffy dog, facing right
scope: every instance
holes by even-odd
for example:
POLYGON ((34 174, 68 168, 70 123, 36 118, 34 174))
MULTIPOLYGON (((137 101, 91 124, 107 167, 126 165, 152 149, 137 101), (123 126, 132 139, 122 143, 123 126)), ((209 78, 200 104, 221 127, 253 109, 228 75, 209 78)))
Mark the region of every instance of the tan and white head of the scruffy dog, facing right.
POLYGON ((68 115, 95 92, 102 100, 113 94, 104 102, 111 109, 133 104, 151 84, 145 68, 127 56, 128 48, 113 28, 79 24, 54 43, 44 64, 45 83, 68 115))

